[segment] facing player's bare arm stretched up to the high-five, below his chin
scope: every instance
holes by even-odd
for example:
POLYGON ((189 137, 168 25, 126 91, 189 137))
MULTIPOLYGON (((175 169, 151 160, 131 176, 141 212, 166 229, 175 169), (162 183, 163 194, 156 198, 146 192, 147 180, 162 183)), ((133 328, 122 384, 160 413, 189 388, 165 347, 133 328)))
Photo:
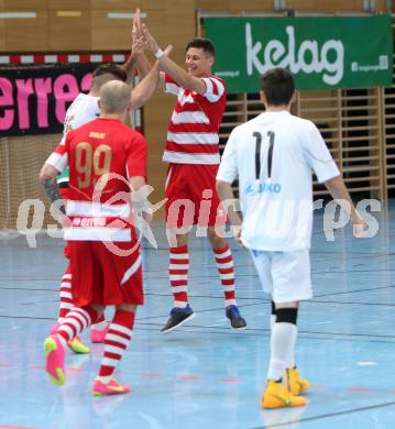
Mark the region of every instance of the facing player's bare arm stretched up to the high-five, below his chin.
POLYGON ((179 67, 161 50, 155 38, 150 33, 147 26, 142 24, 144 37, 146 38, 147 48, 156 56, 160 63, 161 70, 172 75, 174 80, 184 88, 189 88, 193 91, 204 96, 206 94, 206 84, 198 77, 189 75, 183 67, 179 67))

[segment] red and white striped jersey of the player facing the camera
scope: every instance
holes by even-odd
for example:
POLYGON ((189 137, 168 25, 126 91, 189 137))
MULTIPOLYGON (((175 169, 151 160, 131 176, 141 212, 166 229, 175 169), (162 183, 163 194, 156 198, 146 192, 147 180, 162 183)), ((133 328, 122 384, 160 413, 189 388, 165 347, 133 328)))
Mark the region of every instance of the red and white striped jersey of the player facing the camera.
POLYGON ((201 78, 206 94, 180 87, 165 75, 165 91, 177 96, 167 129, 163 161, 176 164, 219 164, 219 127, 227 103, 227 87, 217 76, 201 78))

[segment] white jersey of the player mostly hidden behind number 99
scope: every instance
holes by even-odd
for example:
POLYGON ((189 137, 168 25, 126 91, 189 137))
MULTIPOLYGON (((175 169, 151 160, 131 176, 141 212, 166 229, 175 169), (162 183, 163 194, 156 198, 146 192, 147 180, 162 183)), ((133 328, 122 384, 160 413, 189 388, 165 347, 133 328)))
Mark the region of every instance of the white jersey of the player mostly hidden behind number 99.
MULTIPOLYGON (((100 116, 99 97, 80 92, 66 111, 61 143, 64 144, 68 131, 97 119, 100 116)), ((68 183, 68 168, 57 176, 58 184, 68 183)))

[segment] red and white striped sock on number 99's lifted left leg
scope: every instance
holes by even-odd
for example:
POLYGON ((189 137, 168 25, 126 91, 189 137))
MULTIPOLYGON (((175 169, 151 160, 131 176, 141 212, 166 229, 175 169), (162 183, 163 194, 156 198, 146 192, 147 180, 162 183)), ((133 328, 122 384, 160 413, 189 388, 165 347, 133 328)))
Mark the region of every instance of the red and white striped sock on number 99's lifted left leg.
POLYGON ((56 334, 61 337, 62 344, 67 345, 69 341, 78 337, 88 324, 96 321, 97 314, 90 306, 84 308, 74 307, 63 320, 56 334))

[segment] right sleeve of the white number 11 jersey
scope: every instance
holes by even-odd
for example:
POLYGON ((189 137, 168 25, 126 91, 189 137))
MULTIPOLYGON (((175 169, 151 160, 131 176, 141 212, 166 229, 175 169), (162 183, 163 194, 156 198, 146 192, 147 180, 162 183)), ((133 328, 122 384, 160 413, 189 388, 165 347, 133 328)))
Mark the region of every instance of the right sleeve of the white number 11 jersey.
POLYGON ((310 129, 304 141, 305 157, 308 165, 316 173, 318 182, 327 182, 340 175, 339 168, 332 158, 317 127, 310 122, 310 129))

